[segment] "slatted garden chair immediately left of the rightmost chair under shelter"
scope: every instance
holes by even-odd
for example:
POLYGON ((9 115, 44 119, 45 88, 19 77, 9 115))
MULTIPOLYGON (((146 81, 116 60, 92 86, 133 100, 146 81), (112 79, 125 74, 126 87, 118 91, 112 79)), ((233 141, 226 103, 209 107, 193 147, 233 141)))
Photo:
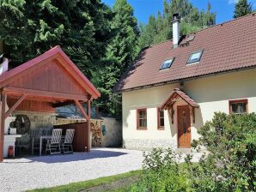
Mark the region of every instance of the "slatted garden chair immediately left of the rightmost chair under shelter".
POLYGON ((46 153, 47 151, 50 154, 60 154, 61 153, 61 136, 62 129, 53 129, 51 139, 47 140, 46 143, 46 153))

